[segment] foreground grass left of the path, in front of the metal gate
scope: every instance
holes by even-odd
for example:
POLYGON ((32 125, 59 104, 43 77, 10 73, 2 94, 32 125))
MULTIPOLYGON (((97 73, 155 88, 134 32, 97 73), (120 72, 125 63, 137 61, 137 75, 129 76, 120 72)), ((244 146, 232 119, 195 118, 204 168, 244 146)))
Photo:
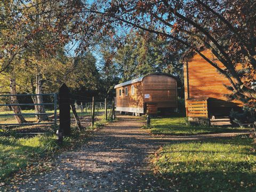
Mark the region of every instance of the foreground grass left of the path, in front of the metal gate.
POLYGON ((55 134, 26 138, 0 137, 0 181, 9 178, 12 173, 24 169, 31 163, 41 163, 43 157, 50 157, 64 148, 70 149, 85 142, 85 135, 84 131, 78 133, 73 127, 71 137, 64 137, 62 146, 57 145, 55 134))

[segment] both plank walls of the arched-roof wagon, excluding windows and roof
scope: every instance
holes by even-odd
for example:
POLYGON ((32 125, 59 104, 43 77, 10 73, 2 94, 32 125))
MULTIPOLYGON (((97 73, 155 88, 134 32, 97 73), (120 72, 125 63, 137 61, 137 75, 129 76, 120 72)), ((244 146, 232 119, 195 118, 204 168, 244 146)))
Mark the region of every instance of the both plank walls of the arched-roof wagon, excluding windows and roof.
POLYGON ((154 105, 155 108, 177 108, 177 99, 176 79, 163 74, 147 75, 142 82, 116 88, 117 110, 134 111, 134 108, 140 108, 142 112, 139 113, 146 113, 146 103, 150 103, 150 106, 154 105), (134 95, 131 92, 132 85, 134 95), (125 87, 128 89, 128 95, 125 95, 125 87), (119 90, 121 90, 121 96, 119 96, 119 90), (149 98, 145 98, 145 95, 149 95, 149 98))

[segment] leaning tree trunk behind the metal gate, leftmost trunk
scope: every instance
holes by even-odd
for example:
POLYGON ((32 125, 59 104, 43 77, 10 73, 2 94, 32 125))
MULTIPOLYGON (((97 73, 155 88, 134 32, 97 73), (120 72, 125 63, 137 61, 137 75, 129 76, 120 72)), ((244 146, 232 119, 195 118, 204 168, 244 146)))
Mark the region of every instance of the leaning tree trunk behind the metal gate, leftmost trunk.
MULTIPOLYGON (((16 90, 16 79, 11 77, 10 78, 10 93, 11 94, 17 94, 17 90, 16 90)), ((18 99, 17 99, 17 96, 11 96, 11 103, 15 103, 15 104, 18 104, 18 99)), ((20 106, 11 106, 12 107, 12 110, 13 110, 13 113, 14 114, 21 114, 21 108, 20 106)), ((26 120, 25 118, 22 116, 22 115, 15 115, 14 116, 15 119, 17 120, 18 123, 25 123, 26 120)))

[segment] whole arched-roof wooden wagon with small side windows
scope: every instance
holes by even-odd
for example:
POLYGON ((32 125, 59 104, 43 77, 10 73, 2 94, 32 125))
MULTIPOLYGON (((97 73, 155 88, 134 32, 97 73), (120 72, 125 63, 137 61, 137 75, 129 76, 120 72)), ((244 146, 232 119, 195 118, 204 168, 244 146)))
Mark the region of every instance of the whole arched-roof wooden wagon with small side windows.
POLYGON ((176 111, 177 81, 163 73, 149 74, 115 86, 116 110, 135 115, 156 115, 158 110, 176 111))

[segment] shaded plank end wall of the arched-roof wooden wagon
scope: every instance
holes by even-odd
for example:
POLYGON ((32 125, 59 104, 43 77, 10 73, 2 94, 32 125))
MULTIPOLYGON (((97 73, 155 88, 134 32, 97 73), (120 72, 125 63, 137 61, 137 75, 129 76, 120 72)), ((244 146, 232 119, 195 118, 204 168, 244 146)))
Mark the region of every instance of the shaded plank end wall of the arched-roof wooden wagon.
POLYGON ((149 94, 145 103, 157 102, 158 108, 177 107, 177 82, 167 75, 148 75, 143 78, 144 96, 149 94))

